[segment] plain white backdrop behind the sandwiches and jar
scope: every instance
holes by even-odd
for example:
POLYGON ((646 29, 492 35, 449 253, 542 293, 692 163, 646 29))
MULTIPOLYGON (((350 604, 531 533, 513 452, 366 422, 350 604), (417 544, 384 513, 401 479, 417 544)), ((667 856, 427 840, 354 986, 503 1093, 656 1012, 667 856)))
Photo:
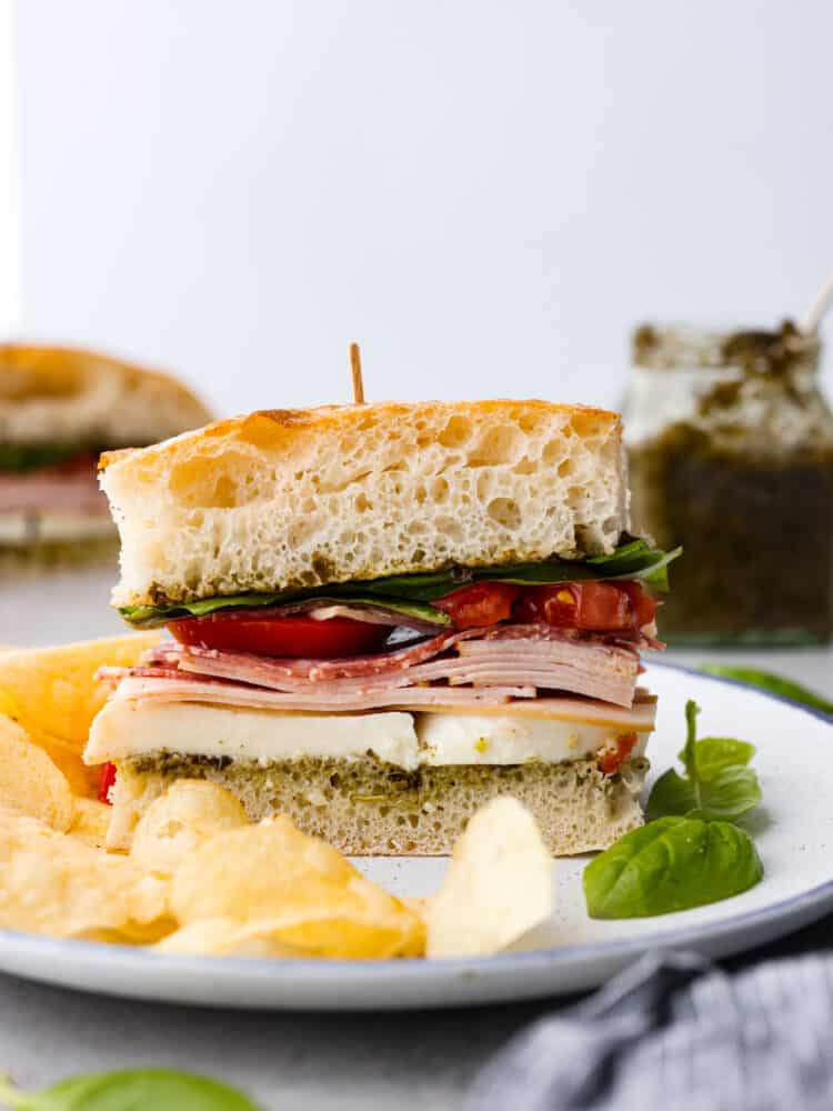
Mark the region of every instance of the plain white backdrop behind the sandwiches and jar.
MULTIPOLYGON (((833 266, 826 0, 20 0, 18 331, 221 410, 615 402, 833 266)), ((7 247, 10 247, 7 243, 7 247)))

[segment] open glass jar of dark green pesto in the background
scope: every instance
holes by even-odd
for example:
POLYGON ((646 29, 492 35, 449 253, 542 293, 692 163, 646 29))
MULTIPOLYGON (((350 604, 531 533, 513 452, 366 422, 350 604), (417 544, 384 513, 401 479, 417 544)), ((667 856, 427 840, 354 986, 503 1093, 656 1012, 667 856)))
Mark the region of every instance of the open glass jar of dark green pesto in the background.
POLYGON ((676 644, 807 644, 833 633, 833 414, 820 344, 643 326, 623 406, 632 520, 682 544, 660 617, 676 644))

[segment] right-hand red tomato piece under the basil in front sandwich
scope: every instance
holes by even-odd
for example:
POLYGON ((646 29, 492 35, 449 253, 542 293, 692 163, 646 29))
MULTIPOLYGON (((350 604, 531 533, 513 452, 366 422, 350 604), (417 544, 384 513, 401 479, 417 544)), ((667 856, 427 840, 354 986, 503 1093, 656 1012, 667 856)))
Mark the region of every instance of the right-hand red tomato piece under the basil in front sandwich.
POLYGON ((559 629, 615 632, 653 620, 656 603, 639 582, 569 582, 530 587, 514 609, 516 621, 545 621, 559 629))

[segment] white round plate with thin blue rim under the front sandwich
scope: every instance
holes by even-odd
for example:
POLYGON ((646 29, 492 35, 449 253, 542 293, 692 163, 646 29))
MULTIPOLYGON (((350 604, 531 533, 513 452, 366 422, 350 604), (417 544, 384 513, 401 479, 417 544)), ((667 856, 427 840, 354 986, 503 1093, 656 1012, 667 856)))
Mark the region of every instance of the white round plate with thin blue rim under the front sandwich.
MULTIPOLYGON (((54 941, 0 931, 0 968, 84 991, 178 1003, 348 1010, 504 1002, 593 988, 650 949, 685 947, 726 957, 833 910, 833 722, 725 680, 652 665, 660 695, 650 745, 654 770, 670 767, 683 738, 683 707, 702 707, 700 735, 757 745, 764 802, 750 821, 763 881, 711 907, 662 918, 594 922, 581 891, 583 858, 554 862, 558 909, 521 951, 478 960, 264 961, 159 957, 141 949, 54 941)), ((400 894, 434 889, 444 860, 360 861, 400 894)))

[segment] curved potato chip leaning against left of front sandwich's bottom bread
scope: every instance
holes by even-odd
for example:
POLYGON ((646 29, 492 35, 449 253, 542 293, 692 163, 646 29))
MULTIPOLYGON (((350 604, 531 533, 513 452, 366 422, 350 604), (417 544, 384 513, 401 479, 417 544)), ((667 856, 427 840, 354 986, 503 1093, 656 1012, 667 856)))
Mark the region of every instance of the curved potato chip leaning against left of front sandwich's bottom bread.
POLYGON ((148 871, 172 875, 185 853, 207 838, 248 824, 231 791, 204 779, 180 779, 142 814, 130 855, 148 871))

